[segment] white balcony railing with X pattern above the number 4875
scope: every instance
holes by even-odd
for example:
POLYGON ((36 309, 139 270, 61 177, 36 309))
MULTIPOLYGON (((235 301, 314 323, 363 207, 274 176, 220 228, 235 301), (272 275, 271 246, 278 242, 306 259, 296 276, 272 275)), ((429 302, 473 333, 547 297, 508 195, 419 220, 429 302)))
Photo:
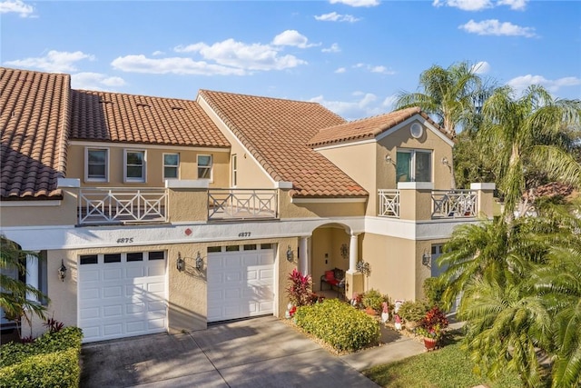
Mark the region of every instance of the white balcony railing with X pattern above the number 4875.
POLYGON ((168 219, 166 189, 84 188, 79 224, 161 223, 168 219))

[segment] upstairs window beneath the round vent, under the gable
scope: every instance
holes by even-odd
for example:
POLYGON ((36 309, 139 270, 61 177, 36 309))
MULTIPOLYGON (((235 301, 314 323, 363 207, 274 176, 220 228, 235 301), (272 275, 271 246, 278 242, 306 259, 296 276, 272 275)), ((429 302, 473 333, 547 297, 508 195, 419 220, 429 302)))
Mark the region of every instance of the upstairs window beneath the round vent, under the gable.
POLYGON ((431 182, 432 152, 399 149, 396 160, 396 182, 431 182))

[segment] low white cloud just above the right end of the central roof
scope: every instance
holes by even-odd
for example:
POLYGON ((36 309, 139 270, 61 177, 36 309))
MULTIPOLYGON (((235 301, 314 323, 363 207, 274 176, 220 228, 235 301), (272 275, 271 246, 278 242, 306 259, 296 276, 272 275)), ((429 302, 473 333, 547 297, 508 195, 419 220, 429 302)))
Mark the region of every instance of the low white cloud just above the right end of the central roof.
POLYGON ((355 92, 353 97, 355 97, 354 101, 327 101, 319 95, 311 98, 310 102, 319 103, 348 120, 385 113, 383 104, 377 103, 377 95, 355 92))

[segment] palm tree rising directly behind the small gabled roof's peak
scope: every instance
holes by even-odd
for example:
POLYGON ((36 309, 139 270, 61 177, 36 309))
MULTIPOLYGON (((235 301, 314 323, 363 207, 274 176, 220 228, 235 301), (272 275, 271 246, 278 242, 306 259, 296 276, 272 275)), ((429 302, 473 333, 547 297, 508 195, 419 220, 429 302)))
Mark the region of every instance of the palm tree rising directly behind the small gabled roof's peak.
MULTIPOLYGON (((480 123, 479 108, 492 90, 485 86, 486 82, 477 72, 478 67, 468 62, 453 64, 446 69, 433 65, 419 75, 423 93, 399 93, 396 108, 419 106, 451 136, 456 136, 459 126, 471 134, 480 123)), ((453 166, 452 162, 451 185, 456 188, 453 166)))

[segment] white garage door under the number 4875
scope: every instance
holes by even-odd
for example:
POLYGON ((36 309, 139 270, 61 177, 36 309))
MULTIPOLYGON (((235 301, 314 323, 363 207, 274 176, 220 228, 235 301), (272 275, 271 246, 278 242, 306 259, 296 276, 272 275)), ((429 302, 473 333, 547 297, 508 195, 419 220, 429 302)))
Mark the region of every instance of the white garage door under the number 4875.
POLYGON ((82 255, 78 268, 84 342, 166 330, 163 252, 82 255))

